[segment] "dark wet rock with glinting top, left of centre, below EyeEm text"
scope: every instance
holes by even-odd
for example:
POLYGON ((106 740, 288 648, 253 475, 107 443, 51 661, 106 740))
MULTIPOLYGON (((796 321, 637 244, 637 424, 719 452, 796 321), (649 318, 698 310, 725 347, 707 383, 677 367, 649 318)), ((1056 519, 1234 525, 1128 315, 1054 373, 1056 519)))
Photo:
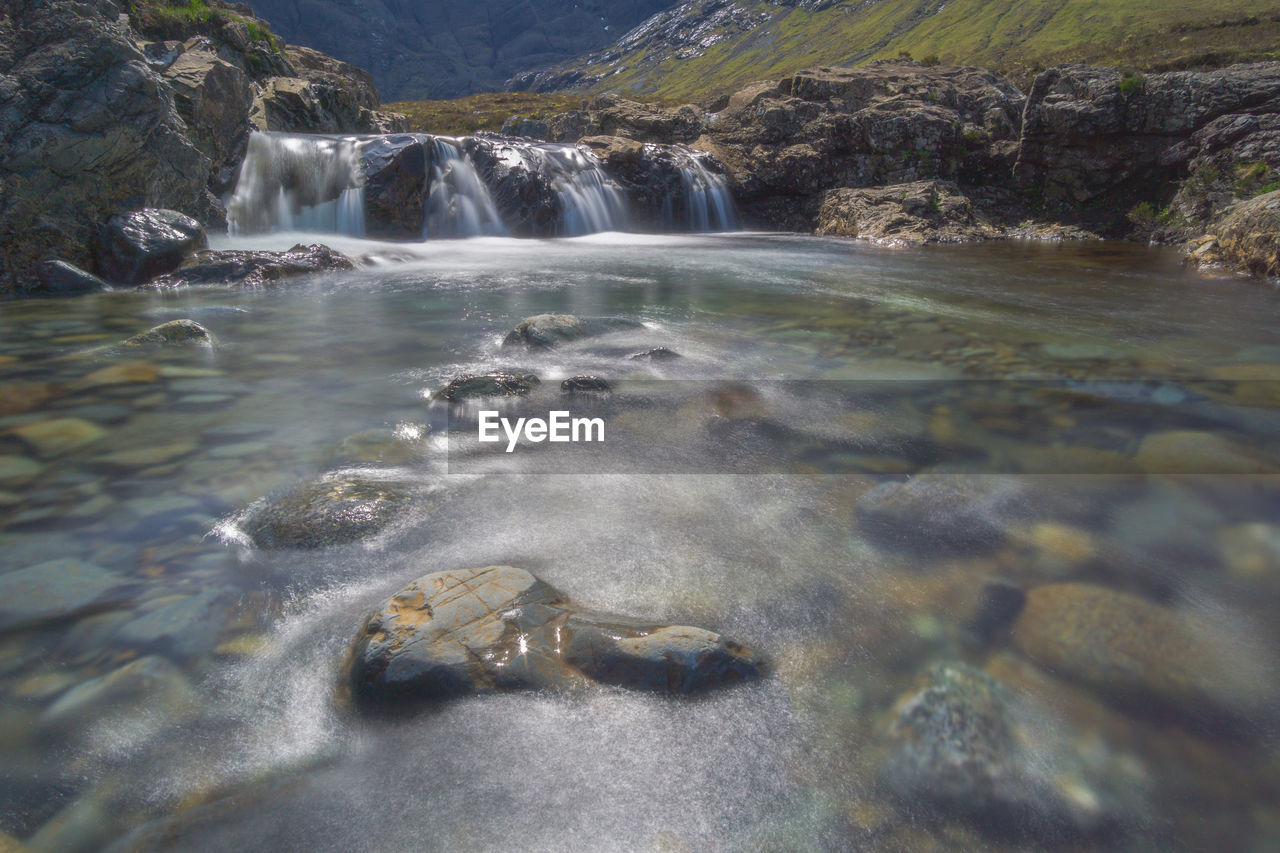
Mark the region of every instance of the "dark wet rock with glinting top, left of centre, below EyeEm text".
POLYGON ((404 484, 358 478, 306 483, 239 523, 259 548, 325 548, 369 538, 408 506, 404 484))

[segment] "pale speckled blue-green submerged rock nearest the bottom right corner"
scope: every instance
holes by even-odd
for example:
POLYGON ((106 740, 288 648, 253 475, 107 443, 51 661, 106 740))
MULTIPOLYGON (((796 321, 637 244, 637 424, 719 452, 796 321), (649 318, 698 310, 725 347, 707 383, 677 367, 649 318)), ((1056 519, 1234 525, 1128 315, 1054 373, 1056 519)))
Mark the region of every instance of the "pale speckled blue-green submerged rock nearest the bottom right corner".
POLYGON ((1048 839, 1133 822, 1144 775, 966 663, 940 663, 895 707, 881 785, 993 835, 1048 839))

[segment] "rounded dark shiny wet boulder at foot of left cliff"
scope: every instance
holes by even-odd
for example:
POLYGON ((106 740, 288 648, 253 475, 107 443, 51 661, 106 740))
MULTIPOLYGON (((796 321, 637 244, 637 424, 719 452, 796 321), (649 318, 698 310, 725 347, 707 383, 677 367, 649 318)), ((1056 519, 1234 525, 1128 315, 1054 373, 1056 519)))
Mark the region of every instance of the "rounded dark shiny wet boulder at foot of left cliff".
POLYGON ((142 284, 170 273, 209 245, 205 228, 177 210, 143 209, 111 216, 95 247, 99 273, 119 284, 142 284))

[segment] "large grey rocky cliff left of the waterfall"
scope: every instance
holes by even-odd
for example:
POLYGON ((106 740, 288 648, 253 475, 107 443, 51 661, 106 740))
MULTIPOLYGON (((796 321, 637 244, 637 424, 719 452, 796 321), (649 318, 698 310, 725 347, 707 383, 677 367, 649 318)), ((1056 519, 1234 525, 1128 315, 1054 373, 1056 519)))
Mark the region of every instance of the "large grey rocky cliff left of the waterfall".
POLYGON ((0 292, 61 259, 92 269, 114 214, 223 219, 252 128, 392 129, 367 76, 287 49, 244 6, 0 6, 0 292))

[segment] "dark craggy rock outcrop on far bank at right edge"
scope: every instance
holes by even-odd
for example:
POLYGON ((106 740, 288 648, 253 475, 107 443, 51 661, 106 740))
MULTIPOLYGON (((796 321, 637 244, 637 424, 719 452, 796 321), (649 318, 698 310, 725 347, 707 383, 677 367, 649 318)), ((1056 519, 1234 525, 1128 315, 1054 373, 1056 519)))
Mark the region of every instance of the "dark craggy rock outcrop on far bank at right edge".
POLYGON ((1148 76, 1052 68, 1027 97, 1015 174, 1051 214, 1119 234, 1146 205, 1148 229, 1185 233, 1230 200, 1240 167, 1280 165, 1277 113, 1280 63, 1148 76))

